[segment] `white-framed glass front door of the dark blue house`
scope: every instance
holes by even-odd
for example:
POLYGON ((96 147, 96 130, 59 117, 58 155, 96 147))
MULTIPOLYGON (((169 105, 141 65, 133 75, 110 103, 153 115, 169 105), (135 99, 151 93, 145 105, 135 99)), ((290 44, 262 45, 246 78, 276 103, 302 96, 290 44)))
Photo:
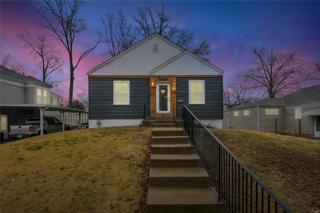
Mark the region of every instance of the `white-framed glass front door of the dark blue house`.
POLYGON ((156 83, 156 113, 170 113, 170 83, 156 83))

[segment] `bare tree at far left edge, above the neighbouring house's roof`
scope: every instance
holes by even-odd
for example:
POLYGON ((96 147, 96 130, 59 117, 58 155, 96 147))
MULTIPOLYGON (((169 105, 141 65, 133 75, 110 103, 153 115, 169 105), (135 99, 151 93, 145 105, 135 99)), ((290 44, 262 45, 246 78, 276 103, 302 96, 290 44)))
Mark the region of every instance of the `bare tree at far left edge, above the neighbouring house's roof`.
POLYGON ((11 54, 3 52, 3 43, 0 43, 0 64, 12 71, 19 74, 25 75, 25 70, 23 69, 23 64, 20 63, 15 57, 12 58, 11 54))

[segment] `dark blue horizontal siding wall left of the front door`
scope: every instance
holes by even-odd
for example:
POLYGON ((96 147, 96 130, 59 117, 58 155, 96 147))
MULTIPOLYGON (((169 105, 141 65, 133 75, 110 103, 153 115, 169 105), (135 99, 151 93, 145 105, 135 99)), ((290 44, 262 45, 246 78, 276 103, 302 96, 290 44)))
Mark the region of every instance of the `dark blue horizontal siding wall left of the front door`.
POLYGON ((89 77, 89 119, 142 119, 149 97, 149 78, 89 77), (113 80, 130 81, 129 105, 113 105, 113 80))

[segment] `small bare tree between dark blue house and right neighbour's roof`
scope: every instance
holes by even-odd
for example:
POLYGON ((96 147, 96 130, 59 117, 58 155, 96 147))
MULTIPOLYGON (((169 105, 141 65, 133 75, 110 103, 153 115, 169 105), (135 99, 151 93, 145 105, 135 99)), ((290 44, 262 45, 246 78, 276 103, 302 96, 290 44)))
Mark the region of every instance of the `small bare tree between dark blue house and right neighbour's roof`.
POLYGON ((258 99, 260 99, 259 95, 254 95, 253 89, 248 88, 246 85, 227 83, 223 86, 223 105, 225 108, 231 108, 258 99))

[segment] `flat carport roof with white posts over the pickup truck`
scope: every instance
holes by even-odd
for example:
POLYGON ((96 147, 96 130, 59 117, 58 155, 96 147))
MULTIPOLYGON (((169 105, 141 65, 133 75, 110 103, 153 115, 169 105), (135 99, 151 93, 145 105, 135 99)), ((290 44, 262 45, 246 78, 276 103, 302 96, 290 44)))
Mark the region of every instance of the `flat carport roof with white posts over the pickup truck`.
MULTIPOLYGON (((47 104, 1 104, 1 111, 2 109, 25 109, 25 110, 40 110, 40 132, 41 135, 43 134, 43 111, 61 111, 63 114, 62 119, 62 129, 64 131, 64 112, 77 112, 78 113, 78 120, 81 120, 81 113, 84 112, 84 109, 78 109, 78 108, 69 108, 69 107, 63 107, 63 106, 55 106, 55 105, 47 105, 47 104)), ((79 128, 81 127, 81 123, 78 122, 79 128)))

